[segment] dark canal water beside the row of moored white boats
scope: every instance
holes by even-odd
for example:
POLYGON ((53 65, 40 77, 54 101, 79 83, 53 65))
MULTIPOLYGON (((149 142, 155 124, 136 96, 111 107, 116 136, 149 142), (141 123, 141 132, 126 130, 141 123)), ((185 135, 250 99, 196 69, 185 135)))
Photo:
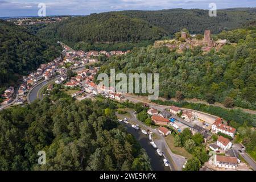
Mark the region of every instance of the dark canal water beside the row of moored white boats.
POLYGON ((127 132, 132 134, 138 140, 139 144, 141 144, 142 148, 146 150, 150 158, 151 167, 154 171, 170 171, 170 167, 164 166, 163 156, 159 156, 156 149, 151 146, 151 140, 148 140, 148 135, 143 134, 141 130, 135 130, 131 125, 121 123, 126 127, 127 132))

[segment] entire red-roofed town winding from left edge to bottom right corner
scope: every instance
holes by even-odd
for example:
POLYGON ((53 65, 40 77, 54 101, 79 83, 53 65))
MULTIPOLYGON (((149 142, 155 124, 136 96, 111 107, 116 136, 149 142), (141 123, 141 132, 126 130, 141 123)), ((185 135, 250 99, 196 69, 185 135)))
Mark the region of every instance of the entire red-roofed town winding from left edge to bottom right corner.
MULTIPOLYGON (((28 96, 31 89, 40 85, 41 82, 47 82, 44 94, 50 94, 54 85, 62 85, 66 90, 65 92, 71 95, 73 98, 81 101, 84 99, 96 100, 95 97, 103 97, 106 99, 114 100, 117 102, 125 102, 131 100, 130 94, 115 93, 114 88, 107 88, 106 86, 101 86, 98 88, 97 84, 94 82, 94 76, 100 70, 99 66, 92 67, 90 65, 97 64, 99 62, 98 56, 114 56, 114 55, 125 55, 130 51, 74 51, 72 48, 67 45, 58 42, 63 46, 64 50, 61 53, 63 59, 58 57, 57 59, 49 62, 48 64, 40 65, 40 68, 37 71, 32 72, 30 75, 23 77, 23 83, 20 84, 18 88, 18 93, 15 94, 15 89, 13 86, 10 86, 5 90, 5 94, 2 97, 5 97, 6 100, 2 102, 2 108, 9 107, 11 105, 23 105, 27 102, 31 102, 30 97, 28 96), (85 65, 88 65, 85 69, 85 65), (68 78, 67 71, 72 70, 73 75, 68 78)), ((41 88, 42 89, 42 88, 41 88)), ((139 102, 137 100, 136 102, 139 102)), ((160 135, 164 142, 166 142, 166 137, 171 133, 182 133, 184 130, 190 130, 192 135, 201 134, 203 136, 203 143, 205 149, 210 151, 210 158, 208 162, 205 162, 204 166, 200 168, 202 171, 212 171, 212 170, 250 170, 248 163, 243 162, 241 154, 245 154, 245 147, 242 144, 233 144, 232 140, 236 134, 236 129, 231 126, 228 126, 227 123, 222 119, 216 116, 202 113, 195 110, 187 110, 177 106, 151 106, 151 104, 141 102, 145 107, 148 107, 147 114, 151 119, 152 125, 155 127, 148 127, 144 125, 140 128, 142 122, 138 119, 135 119, 136 125, 131 125, 135 130, 141 129, 142 133, 149 134, 150 140, 152 140, 152 146, 157 149, 157 153, 160 156, 164 156, 164 164, 170 166, 170 169, 173 170, 174 166, 170 164, 170 160, 177 158, 176 169, 185 168, 187 158, 184 156, 179 156, 174 154, 170 149, 167 150, 170 152, 169 156, 172 159, 168 159, 166 155, 163 154, 163 149, 160 150, 160 147, 157 147, 158 139, 154 142, 154 137, 152 134, 155 132, 157 135, 160 135), (158 109, 155 109, 158 108, 158 109), (155 129, 154 129, 155 128, 155 129), (217 139, 213 139, 214 137, 217 139)), ((133 111, 131 113, 136 117, 136 113, 133 111)), ((123 121, 124 123, 129 123, 129 118, 121 117, 119 122, 123 121)), ((131 122, 132 123, 132 122, 131 122)), ((168 144, 166 144, 168 146, 168 144)), ((170 158, 170 157, 169 157, 170 158)), ((250 160, 250 163, 254 163, 253 160, 250 160)))

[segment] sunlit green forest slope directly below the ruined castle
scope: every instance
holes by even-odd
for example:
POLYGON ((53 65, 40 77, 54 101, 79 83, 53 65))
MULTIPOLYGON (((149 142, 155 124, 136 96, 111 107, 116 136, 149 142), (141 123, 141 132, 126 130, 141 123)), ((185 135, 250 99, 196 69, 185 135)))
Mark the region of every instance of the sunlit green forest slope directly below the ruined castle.
MULTIPOLYGON (((202 53, 199 48, 183 53, 167 47, 134 48, 122 57, 112 57, 100 73, 159 73, 160 96, 175 97, 181 91, 185 98, 199 98, 209 103, 224 102, 256 109, 256 28, 231 31, 226 35, 240 37, 238 44, 227 44, 218 52, 202 53)), ((221 34, 225 38, 224 34, 221 34)), ((236 42, 236 41, 234 41, 236 42)), ((232 105, 231 105, 232 106, 232 105)))

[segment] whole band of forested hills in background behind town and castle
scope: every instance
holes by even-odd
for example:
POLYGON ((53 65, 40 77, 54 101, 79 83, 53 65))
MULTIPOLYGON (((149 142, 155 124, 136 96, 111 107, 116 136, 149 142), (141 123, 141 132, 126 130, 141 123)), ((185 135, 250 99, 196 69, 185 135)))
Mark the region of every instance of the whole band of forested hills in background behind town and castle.
MULTIPOLYGON (((171 9, 160 11, 115 11, 69 18, 41 28, 38 35, 50 40, 61 40, 76 49, 127 50, 147 46, 152 41, 172 36, 182 28, 193 34, 205 29, 214 34, 232 30, 256 19, 255 9, 218 10, 210 17, 208 10, 171 9), (148 40, 140 43, 141 41, 148 40), (151 41, 151 42, 150 42, 151 41), (134 43, 140 44, 134 44, 134 43)), ((31 28, 30 28, 31 29, 31 28)), ((37 31, 32 28, 32 31, 37 31)))

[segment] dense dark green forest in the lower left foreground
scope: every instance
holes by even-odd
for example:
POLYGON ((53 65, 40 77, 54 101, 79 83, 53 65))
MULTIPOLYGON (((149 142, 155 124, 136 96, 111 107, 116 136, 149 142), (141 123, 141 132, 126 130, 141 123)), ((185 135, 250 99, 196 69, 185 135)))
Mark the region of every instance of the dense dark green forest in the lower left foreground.
POLYGON ((0 112, 1 170, 151 170, 137 140, 117 122, 108 100, 51 97, 0 112), (38 152, 46 151, 39 166, 38 152))

